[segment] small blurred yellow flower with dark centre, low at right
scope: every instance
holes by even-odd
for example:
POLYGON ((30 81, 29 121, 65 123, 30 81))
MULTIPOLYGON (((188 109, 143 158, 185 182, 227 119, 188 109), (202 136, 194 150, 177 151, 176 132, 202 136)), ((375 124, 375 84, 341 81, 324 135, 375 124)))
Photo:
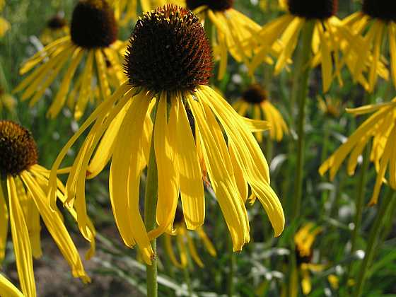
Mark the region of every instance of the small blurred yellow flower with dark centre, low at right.
POLYGON ((296 244, 296 259, 301 274, 301 289, 304 295, 308 295, 312 289, 310 274, 312 272, 321 272, 325 265, 313 264, 313 248, 316 236, 322 232, 322 228, 315 226, 313 223, 306 223, 294 235, 296 244))

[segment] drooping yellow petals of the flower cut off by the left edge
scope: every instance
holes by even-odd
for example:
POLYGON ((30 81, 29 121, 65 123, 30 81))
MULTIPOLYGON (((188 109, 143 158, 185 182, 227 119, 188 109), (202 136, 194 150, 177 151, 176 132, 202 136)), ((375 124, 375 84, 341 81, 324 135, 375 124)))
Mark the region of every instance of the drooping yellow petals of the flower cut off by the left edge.
MULTIPOLYGON (((2 188, 0 191, 0 261, 4 259, 9 223, 21 291, 25 296, 36 296, 33 257, 37 258, 42 255, 40 218, 69 263, 73 276, 81 278, 84 282, 90 281, 76 246, 64 226, 62 214, 58 209, 52 211, 47 204, 49 174, 49 171, 40 165, 33 165, 17 176, 8 175, 6 188, 2 188), (8 206, 6 201, 8 201, 8 206)), ((62 201, 64 187, 59 180, 55 182, 56 195, 62 201)), ((76 219, 74 209, 67 208, 67 210, 76 219)), ((91 257, 95 251, 95 230, 91 222, 88 225, 87 239, 91 241, 91 250, 88 251, 87 257, 91 257)))

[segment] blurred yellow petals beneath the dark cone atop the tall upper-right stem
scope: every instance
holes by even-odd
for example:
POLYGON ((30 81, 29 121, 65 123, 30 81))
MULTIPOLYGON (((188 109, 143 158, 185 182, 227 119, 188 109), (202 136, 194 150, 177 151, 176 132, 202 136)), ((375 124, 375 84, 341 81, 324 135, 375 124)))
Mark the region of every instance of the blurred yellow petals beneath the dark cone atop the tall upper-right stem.
POLYGON ((271 54, 277 58, 274 72, 279 74, 288 64, 291 63, 293 52, 298 45, 298 37, 301 30, 308 23, 313 22, 312 53, 313 66, 321 65, 322 88, 327 92, 331 86, 334 76, 339 69, 339 20, 332 16, 323 20, 308 20, 292 14, 286 13, 284 16, 264 25, 260 32, 252 37, 247 45, 255 48, 252 62, 249 64, 249 73, 253 74, 255 69, 267 55, 271 54), (335 65, 333 65, 335 64, 335 65))

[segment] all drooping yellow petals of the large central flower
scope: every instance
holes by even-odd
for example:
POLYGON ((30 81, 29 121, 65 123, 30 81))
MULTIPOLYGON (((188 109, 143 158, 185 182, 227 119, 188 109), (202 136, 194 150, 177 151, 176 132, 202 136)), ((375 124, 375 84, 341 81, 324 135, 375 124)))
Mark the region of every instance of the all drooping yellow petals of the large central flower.
POLYGON ((59 154, 50 177, 52 207, 55 206, 57 169, 74 141, 91 124, 66 182, 66 205, 76 207, 83 234, 88 230, 86 175, 97 175, 111 161, 110 200, 117 227, 124 243, 129 247, 137 244, 144 261, 151 263, 153 250, 149 240, 173 231, 179 194, 187 228, 195 230, 204 223, 204 186, 199 156, 202 156, 226 219, 234 250, 241 250, 250 240, 245 199, 240 196, 238 182, 250 185, 262 202, 275 235, 283 231, 283 209, 269 186, 267 162, 250 132, 250 128, 262 127, 243 120, 226 100, 207 86, 198 86, 192 93, 175 91, 154 95, 141 88, 122 85, 88 117, 59 154), (153 104, 156 104, 154 125, 150 120, 153 104), (194 118, 194 129, 190 127, 187 110, 194 118), (147 233, 139 212, 139 179, 147 163, 152 134, 158 167, 158 227, 147 233), (238 182, 228 145, 233 146, 233 162, 240 168, 238 178, 243 178, 238 182))

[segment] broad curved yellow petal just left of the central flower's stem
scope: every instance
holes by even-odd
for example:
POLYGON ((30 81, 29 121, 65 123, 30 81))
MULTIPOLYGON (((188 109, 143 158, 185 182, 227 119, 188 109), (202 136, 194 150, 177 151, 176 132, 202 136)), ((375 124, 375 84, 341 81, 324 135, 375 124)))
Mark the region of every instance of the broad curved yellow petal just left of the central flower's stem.
POLYGON ((124 243, 139 245, 144 261, 151 264, 153 250, 139 211, 139 151, 144 119, 150 100, 146 94, 131 99, 127 115, 117 135, 110 168, 110 200, 117 227, 124 243), (125 190, 127 189, 127 194, 125 190))

